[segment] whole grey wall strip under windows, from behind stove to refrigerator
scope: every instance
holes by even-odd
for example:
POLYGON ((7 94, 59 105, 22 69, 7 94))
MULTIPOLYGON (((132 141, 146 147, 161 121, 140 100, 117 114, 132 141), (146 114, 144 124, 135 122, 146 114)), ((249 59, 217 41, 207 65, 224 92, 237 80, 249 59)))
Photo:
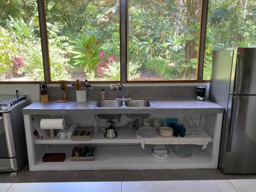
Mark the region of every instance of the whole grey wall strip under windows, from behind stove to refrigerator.
MULTIPOLYGON (((123 84, 124 95, 131 94, 132 98, 195 98, 197 86, 207 86, 207 94, 209 93, 210 83, 162 83, 162 84, 123 84)), ((96 99, 100 96, 100 91, 104 88, 107 98, 114 98, 116 94, 121 96, 121 91, 112 91, 109 84, 92 84, 94 89, 88 90, 88 99, 96 99)), ((56 100, 63 97, 63 91, 60 90, 59 84, 49 84, 49 98, 56 100)), ((20 95, 27 95, 31 102, 39 99, 38 84, 0 84, 0 95, 15 95, 15 90, 22 90, 20 95)), ((68 88, 68 98, 76 99, 75 91, 68 88)))

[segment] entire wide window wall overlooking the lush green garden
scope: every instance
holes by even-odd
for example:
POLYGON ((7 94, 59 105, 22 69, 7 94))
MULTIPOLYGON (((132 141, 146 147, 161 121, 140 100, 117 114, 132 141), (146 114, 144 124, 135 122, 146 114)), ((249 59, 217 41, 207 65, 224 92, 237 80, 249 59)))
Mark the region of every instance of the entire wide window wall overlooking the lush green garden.
POLYGON ((2 0, 0 83, 208 80, 212 51, 255 31, 254 0, 2 0))

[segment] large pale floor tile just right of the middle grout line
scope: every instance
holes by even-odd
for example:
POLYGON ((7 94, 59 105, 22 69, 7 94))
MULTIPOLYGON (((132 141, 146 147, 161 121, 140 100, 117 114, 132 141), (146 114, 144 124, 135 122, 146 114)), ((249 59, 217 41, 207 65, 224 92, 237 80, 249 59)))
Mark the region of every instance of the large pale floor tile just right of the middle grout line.
POLYGON ((237 192, 228 180, 122 182, 122 192, 237 192))

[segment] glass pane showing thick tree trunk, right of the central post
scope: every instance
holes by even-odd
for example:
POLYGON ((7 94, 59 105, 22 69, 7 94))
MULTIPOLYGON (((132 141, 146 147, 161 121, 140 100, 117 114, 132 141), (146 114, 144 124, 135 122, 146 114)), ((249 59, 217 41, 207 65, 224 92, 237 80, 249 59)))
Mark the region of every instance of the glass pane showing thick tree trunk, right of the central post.
POLYGON ((202 1, 129 2, 128 79, 197 79, 202 1))

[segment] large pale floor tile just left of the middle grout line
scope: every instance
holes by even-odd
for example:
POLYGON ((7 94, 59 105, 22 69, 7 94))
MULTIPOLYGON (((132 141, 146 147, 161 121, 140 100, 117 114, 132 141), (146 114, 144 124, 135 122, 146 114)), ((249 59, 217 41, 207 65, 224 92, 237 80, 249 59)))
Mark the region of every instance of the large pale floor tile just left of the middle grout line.
POLYGON ((14 183, 8 192, 121 192, 121 182, 14 183))

